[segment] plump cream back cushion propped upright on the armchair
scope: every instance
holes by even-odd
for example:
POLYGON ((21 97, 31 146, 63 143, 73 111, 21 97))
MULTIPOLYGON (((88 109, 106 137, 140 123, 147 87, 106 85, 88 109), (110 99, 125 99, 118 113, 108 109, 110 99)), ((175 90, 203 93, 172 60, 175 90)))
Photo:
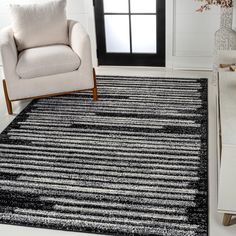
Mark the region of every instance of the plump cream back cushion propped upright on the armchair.
POLYGON ((68 44, 66 0, 11 4, 10 10, 18 51, 52 44, 68 44))

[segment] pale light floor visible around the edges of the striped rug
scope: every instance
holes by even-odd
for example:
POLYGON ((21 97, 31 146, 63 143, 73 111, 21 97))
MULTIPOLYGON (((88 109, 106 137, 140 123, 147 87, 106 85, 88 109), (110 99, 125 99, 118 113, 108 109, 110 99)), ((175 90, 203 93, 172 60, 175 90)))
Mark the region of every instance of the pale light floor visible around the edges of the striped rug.
MULTIPOLYGON (((0 67, 1 70, 1 67, 0 67)), ((222 214, 217 213, 217 161, 216 161, 216 87, 212 82, 212 73, 202 71, 180 71, 164 68, 147 67, 100 67, 96 69, 98 75, 129 75, 129 76, 154 76, 154 77, 181 77, 181 78, 208 78, 209 79, 209 236, 235 236, 236 224, 224 227, 222 214)), ((1 73, 1 71, 0 71, 1 73)), ((1 76, 2 79, 2 76, 1 76)), ((1 80, 0 79, 0 80, 1 80)), ((0 81, 2 84, 2 81, 0 81)), ((99 91, 98 91, 99 92, 99 91)), ((2 131, 14 117, 28 104, 29 101, 15 102, 14 115, 7 115, 2 86, 0 85, 0 131, 2 131)), ((235 186, 233 186, 235 187, 235 186)), ((236 200, 236 199, 235 199, 236 200)), ((236 220, 235 220, 236 222, 236 220)), ((0 225, 1 236, 84 236, 92 235, 0 225)))

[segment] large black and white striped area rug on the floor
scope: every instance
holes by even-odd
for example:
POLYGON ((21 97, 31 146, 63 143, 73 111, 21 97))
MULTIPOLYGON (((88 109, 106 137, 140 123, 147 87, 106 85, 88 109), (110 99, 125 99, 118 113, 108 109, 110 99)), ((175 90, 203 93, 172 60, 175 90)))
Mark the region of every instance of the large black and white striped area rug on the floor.
POLYGON ((0 135, 0 223, 208 234, 206 79, 98 78, 33 101, 0 135))

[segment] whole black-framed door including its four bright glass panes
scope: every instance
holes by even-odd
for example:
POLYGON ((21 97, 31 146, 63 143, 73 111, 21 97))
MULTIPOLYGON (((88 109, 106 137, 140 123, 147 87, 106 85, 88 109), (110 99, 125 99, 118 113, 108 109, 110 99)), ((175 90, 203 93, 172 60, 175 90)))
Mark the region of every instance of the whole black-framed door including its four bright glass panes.
POLYGON ((99 65, 165 66, 165 0, 94 0, 99 65))

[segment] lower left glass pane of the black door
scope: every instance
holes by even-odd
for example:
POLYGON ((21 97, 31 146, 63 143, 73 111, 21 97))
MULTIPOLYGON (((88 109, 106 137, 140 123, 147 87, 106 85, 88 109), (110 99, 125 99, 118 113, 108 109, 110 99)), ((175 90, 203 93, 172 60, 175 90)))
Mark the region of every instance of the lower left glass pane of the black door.
POLYGON ((107 52, 130 52, 129 16, 105 15, 107 52))

